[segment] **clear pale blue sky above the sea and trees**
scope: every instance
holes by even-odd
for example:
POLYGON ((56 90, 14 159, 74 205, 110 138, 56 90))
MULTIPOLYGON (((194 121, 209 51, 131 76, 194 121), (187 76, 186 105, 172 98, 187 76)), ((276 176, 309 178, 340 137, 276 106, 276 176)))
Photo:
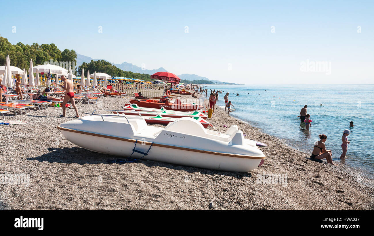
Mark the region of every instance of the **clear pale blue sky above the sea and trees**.
POLYGON ((373 13, 374 1, 2 1, 0 34, 212 80, 373 84, 373 13), (301 71, 307 59, 331 70, 301 71))

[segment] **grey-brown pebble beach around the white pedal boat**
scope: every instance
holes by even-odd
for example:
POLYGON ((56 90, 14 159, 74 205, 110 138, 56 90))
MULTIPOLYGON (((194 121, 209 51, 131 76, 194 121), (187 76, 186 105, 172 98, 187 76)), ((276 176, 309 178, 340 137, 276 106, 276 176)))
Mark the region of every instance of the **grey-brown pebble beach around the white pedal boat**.
MULTIPOLYGON (((191 96, 184 95, 192 101, 191 96)), ((132 97, 104 97, 78 104, 79 113, 122 110, 132 97)), ((220 97, 220 99, 223 99, 220 97)), ((266 143, 262 166, 232 173, 140 160, 108 163, 116 156, 95 153, 70 143, 56 128, 70 121, 61 108, 5 115, 23 125, 0 126, 0 174, 28 174, 30 184, 1 184, 0 209, 373 209, 374 183, 344 165, 309 159, 216 107, 208 119, 219 131, 236 124, 246 138, 266 143), (264 174, 286 174, 286 184, 268 184, 264 174)), ((234 112, 232 113, 234 115, 234 112)), ((99 145, 99 144, 98 144, 99 145)))

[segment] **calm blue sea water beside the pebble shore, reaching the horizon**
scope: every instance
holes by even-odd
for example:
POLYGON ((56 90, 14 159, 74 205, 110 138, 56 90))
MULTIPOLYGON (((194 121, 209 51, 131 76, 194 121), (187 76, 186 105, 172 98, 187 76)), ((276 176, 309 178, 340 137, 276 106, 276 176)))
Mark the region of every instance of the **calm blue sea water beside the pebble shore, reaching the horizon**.
POLYGON ((230 115, 288 140, 294 148, 311 153, 318 135, 326 134, 326 148, 332 150, 333 161, 374 177, 374 85, 212 85, 207 88, 208 96, 210 89, 224 91, 217 102, 223 108, 223 96, 229 92, 229 100, 234 105, 230 115), (304 105, 308 105, 313 121, 309 131, 297 118, 304 105), (350 121, 354 127, 349 127, 350 121), (346 159, 341 161, 340 145, 345 129, 351 131, 347 137, 350 144, 346 159))

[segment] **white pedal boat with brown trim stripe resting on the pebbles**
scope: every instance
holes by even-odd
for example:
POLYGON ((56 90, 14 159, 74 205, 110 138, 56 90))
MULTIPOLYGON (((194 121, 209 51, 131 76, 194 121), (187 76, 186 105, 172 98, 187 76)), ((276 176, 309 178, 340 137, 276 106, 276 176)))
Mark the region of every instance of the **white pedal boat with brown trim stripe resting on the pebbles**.
POLYGON ((135 159, 236 172, 251 171, 265 159, 256 142, 245 139, 237 125, 219 133, 189 117, 154 127, 142 117, 83 114, 58 129, 82 148, 135 159))

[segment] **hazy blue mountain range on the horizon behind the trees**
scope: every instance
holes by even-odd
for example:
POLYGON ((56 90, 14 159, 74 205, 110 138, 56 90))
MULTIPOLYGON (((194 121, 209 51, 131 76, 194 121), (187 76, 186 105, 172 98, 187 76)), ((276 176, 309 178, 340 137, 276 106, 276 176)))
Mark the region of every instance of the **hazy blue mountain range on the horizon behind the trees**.
MULTIPOLYGON (((81 54, 77 53, 77 67, 82 65, 83 62, 90 63, 91 60, 96 61, 96 60, 105 60, 105 59, 93 59, 93 58, 90 58, 89 56, 85 56, 85 55, 81 55, 81 54)), ((163 67, 160 67, 158 69, 148 70, 148 69, 142 69, 141 67, 133 65, 132 63, 128 63, 128 62, 123 62, 122 64, 115 64, 115 63, 112 63, 108 60, 105 60, 105 61, 111 63, 112 65, 116 66, 119 69, 122 69, 123 71, 131 71, 131 72, 134 72, 134 73, 152 75, 152 74, 154 74, 156 72, 159 72, 159 71, 167 71, 163 67)), ((191 80, 191 81, 193 81, 193 80, 209 80, 206 77, 202 77, 202 76, 195 75, 195 74, 181 74, 181 75, 178 75, 178 77, 181 78, 182 80, 191 80)), ((218 80, 209 80, 209 81, 212 81, 213 83, 218 83, 218 84, 223 83, 223 82, 218 81, 218 80)))

